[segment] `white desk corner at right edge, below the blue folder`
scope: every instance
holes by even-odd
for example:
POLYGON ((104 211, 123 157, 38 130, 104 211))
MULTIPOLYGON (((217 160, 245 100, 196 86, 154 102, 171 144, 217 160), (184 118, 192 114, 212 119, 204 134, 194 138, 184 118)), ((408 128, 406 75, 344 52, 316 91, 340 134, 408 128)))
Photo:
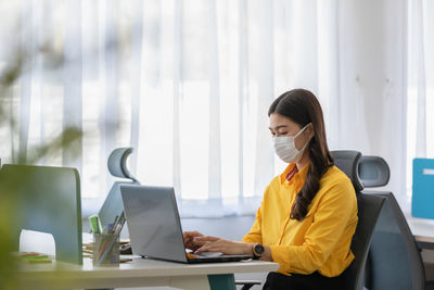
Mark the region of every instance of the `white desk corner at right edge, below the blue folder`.
POLYGON ((408 226, 420 248, 434 250, 434 219, 406 216, 408 226))

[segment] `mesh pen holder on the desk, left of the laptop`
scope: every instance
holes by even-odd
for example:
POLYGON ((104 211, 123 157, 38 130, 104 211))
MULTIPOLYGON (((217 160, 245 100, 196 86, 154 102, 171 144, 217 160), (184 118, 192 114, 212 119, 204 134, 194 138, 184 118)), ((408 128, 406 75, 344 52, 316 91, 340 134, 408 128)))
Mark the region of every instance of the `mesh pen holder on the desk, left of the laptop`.
POLYGON ((119 235, 93 234, 93 266, 119 265, 119 235))

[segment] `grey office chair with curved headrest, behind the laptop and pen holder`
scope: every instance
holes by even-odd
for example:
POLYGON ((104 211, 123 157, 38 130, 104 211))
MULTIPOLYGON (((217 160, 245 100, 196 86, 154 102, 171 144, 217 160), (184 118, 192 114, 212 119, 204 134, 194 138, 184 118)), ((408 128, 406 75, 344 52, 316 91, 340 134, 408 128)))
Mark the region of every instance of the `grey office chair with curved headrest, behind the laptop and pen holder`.
POLYGON ((113 150, 107 160, 107 168, 108 172, 118 178, 124 178, 128 180, 116 181, 113 184, 112 188, 108 191, 107 197, 105 198, 104 203, 102 204, 98 216, 101 220, 101 225, 107 225, 113 223, 116 215, 120 216, 124 212, 124 206, 120 197, 120 185, 132 185, 140 182, 131 175, 128 171, 127 160, 131 154, 132 148, 117 148, 113 150))

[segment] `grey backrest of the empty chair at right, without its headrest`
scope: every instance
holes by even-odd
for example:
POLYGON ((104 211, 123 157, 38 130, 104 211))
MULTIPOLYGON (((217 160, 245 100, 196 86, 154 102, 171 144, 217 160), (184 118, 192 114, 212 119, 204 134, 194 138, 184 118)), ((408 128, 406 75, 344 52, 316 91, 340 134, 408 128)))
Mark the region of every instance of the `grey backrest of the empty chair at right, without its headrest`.
POLYGON ((386 199, 369 250, 367 286, 370 290, 423 290, 422 257, 393 193, 371 193, 386 199))

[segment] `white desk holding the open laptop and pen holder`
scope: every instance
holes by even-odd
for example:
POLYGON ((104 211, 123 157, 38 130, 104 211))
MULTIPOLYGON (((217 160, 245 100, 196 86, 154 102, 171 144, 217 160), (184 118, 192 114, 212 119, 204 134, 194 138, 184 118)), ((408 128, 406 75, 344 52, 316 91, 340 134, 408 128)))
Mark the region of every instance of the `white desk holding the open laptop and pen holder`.
MULTIPOLYGON (((123 288, 123 287, 175 287, 191 290, 208 290, 209 277, 228 277, 233 273, 257 273, 277 270, 279 264, 271 262, 237 262, 187 265, 135 257, 119 267, 93 267, 90 259, 84 265, 61 262, 52 264, 23 265, 20 282, 24 289, 72 289, 72 288, 123 288)), ((214 285, 213 289, 230 289, 214 285)), ((233 286, 234 289, 234 286, 233 286)))

